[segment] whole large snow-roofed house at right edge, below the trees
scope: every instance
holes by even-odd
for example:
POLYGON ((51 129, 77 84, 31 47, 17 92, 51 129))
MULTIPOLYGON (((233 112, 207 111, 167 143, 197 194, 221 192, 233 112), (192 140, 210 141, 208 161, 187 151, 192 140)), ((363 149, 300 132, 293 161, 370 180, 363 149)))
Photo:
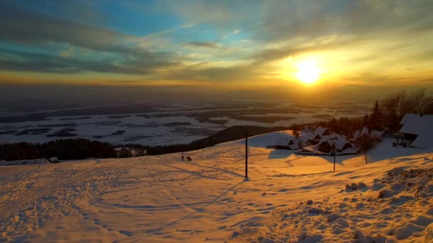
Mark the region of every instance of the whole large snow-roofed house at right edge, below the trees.
POLYGON ((419 116, 405 114, 400 134, 409 146, 417 148, 433 148, 433 115, 419 116))

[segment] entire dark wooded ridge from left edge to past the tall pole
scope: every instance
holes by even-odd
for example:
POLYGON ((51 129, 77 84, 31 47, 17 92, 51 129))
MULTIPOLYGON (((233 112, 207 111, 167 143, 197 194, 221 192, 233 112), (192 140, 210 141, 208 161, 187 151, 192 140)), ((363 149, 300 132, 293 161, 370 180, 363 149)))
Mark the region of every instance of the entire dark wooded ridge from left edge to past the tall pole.
MULTIPOLYGON (((227 129, 204 139, 193 141, 189 144, 173 144, 161 146, 144 146, 141 144, 125 144, 118 147, 132 147, 146 149, 147 155, 158 155, 163 153, 178 153, 206 148, 215 144, 233 141, 245 137, 248 130, 249 136, 266 134, 271 131, 290 129, 286 127, 261 127, 261 126, 231 126, 227 129)), ((17 161, 34 158, 50 158, 56 156, 61 160, 83 159, 83 158, 115 158, 116 156, 128 157, 131 153, 116 154, 115 146, 100 141, 88 139, 60 139, 49 141, 44 144, 16 143, 0 144, 0 161, 17 161)))

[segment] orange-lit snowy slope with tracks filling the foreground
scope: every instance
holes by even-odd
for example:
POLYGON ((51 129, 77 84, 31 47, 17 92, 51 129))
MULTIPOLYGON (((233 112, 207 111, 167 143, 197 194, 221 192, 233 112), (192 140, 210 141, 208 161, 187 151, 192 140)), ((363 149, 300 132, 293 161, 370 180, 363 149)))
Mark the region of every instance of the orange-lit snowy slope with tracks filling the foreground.
POLYGON ((244 141, 184 153, 192 162, 1 168, 0 242, 432 242, 432 150, 385 139, 369 164, 339 156, 333 171, 330 156, 264 148, 278 136, 290 132, 249 139, 249 180, 244 141))

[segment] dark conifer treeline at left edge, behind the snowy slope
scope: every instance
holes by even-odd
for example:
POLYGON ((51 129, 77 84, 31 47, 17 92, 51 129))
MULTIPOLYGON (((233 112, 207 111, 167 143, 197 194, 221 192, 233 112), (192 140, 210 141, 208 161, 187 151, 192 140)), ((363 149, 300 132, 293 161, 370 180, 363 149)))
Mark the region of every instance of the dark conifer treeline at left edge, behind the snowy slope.
POLYGON ((0 144, 0 161, 18 161, 34 158, 83 159, 113 158, 116 156, 111 144, 88 139, 61 139, 44 144, 0 144))

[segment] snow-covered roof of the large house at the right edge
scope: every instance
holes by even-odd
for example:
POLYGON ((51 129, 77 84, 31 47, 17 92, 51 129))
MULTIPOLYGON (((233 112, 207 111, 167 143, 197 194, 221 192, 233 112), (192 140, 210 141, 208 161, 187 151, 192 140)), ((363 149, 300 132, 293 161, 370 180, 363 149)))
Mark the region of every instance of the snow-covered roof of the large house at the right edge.
MULTIPOLYGON (((432 116, 433 117, 433 116, 432 116)), ((400 132, 403 134, 418 135, 411 146, 418 148, 433 148, 433 121, 426 119, 409 119, 402 126, 400 132)))

